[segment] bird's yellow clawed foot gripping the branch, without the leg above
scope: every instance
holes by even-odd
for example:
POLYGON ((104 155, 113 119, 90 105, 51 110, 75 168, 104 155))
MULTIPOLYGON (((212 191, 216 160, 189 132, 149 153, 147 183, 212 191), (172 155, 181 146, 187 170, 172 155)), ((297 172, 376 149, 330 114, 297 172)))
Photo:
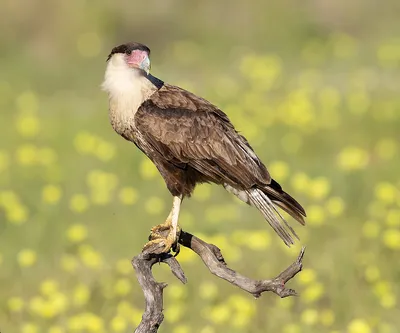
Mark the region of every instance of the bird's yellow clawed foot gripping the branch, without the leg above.
POLYGON ((155 254, 169 253, 171 250, 177 256, 180 251, 178 243, 181 228, 178 226, 176 233, 173 232, 172 225, 168 223, 160 224, 151 229, 149 242, 145 244, 142 252, 151 251, 155 254))

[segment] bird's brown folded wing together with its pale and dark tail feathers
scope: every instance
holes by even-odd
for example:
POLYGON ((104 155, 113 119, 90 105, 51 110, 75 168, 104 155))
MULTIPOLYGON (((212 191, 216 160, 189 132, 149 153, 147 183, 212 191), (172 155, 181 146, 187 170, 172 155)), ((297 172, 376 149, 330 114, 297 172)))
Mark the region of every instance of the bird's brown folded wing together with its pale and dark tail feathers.
POLYGON ((257 207, 286 245, 293 244, 292 236, 298 238, 277 207, 304 224, 303 207, 271 179, 247 140, 217 107, 164 85, 140 106, 135 127, 143 145, 165 161, 180 169, 190 166, 257 207))

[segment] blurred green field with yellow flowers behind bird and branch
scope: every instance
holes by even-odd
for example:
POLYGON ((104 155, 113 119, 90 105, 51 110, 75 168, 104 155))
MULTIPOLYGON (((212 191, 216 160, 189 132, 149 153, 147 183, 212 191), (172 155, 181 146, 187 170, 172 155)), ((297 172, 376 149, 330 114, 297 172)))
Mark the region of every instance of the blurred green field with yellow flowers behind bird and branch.
MULTIPOLYGON (((223 188, 185 200, 184 230, 272 278, 307 245, 300 297, 252 296, 182 249, 160 332, 391 333, 400 326, 400 3, 22 1, 0 13, 0 330, 132 332, 130 259, 171 196, 115 134, 100 90, 112 47, 224 110, 308 213, 285 248, 223 188)), ((296 224, 291 220, 291 224, 296 224)))

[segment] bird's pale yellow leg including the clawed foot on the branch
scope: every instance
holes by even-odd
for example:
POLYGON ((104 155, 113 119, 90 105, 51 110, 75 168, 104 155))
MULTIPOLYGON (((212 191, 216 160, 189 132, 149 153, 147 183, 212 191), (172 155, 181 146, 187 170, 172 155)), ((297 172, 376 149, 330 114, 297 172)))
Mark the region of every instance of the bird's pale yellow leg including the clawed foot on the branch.
POLYGON ((169 253, 171 248, 175 251, 178 248, 178 236, 180 228, 178 228, 178 217, 182 196, 174 197, 172 209, 166 221, 151 229, 149 242, 143 247, 143 251, 150 247, 155 247, 155 253, 169 253), (156 246, 157 245, 157 246, 156 246))

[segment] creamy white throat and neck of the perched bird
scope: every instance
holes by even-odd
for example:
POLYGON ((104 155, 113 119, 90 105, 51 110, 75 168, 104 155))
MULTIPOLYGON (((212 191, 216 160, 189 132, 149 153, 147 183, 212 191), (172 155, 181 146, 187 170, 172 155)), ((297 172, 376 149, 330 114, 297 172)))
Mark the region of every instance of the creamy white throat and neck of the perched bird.
POLYGON ((157 90, 139 70, 126 64, 123 54, 114 54, 108 61, 102 89, 108 93, 111 124, 120 134, 134 126, 136 111, 157 90))

